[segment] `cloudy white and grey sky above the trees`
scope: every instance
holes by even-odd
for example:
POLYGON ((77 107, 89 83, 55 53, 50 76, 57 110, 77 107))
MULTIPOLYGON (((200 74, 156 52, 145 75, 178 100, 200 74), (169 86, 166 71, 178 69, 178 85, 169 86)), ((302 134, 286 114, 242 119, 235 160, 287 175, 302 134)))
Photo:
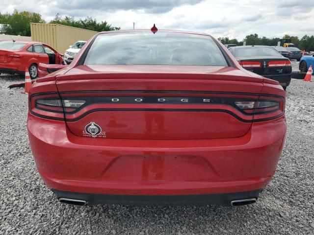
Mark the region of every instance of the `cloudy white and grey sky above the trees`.
POLYGON ((1 13, 36 11, 47 22, 56 13, 89 16, 121 29, 205 32, 243 40, 246 35, 314 35, 314 0, 0 0, 1 13), (36 7, 34 7, 36 6, 36 7))

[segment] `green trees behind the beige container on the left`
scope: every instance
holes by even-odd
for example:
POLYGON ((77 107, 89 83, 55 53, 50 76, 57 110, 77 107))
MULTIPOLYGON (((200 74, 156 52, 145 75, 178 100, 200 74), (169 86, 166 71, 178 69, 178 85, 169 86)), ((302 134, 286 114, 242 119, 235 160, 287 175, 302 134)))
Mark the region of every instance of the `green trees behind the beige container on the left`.
POLYGON ((50 23, 50 24, 63 24, 78 28, 84 28, 94 31, 109 31, 118 30, 120 27, 111 26, 106 21, 97 22, 92 17, 85 19, 75 20, 73 17, 62 17, 56 14, 55 18, 46 22, 39 13, 14 10, 12 14, 0 12, 0 33, 9 35, 30 36, 30 23, 50 23))

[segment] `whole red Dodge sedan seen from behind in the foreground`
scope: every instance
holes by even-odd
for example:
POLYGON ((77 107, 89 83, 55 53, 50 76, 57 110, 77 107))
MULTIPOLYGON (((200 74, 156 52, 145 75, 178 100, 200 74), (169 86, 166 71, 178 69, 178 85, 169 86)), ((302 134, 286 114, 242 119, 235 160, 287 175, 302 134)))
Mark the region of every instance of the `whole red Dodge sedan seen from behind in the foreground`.
POLYGON ((207 34, 101 32, 33 84, 27 129, 60 202, 246 205, 276 171, 285 92, 207 34))

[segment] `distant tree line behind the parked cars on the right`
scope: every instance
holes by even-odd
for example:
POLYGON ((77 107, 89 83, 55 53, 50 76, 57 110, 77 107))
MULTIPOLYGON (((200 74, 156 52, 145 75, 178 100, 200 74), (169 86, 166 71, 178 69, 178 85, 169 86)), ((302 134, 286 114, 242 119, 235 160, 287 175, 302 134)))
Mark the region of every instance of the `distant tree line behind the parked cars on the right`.
MULTIPOLYGON (((304 35, 301 39, 297 36, 290 36, 288 34, 284 35, 283 38, 291 39, 291 43, 295 47, 305 51, 314 51, 314 36, 304 35)), ((228 37, 221 37, 218 40, 222 44, 235 44, 237 46, 243 46, 243 41, 246 41, 246 46, 250 45, 264 45, 264 46, 277 46, 277 42, 280 38, 266 38, 259 37, 258 34, 247 35, 242 41, 236 39, 229 39, 228 37)))

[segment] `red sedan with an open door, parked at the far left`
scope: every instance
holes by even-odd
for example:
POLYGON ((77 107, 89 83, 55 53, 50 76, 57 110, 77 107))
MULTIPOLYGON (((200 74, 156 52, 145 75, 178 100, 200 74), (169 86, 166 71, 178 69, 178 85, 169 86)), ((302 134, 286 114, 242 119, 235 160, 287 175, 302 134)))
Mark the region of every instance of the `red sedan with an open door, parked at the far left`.
POLYGON ((29 41, 0 41, 0 73, 25 74, 31 79, 38 76, 38 65, 62 64, 62 54, 47 44, 29 41))

